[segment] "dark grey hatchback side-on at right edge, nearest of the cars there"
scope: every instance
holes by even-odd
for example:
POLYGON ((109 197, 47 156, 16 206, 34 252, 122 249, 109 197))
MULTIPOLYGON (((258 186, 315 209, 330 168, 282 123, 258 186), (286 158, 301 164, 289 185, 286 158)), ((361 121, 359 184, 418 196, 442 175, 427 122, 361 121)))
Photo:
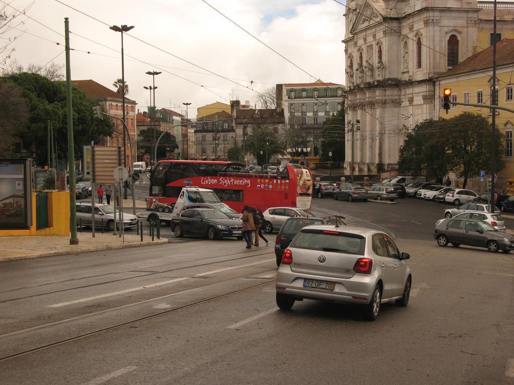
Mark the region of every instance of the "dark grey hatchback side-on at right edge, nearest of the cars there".
POLYGON ((491 253, 501 250, 509 253, 514 249, 514 237, 499 232, 489 223, 476 219, 449 218, 440 222, 434 230, 434 239, 439 246, 448 243, 460 245, 487 247, 491 253))

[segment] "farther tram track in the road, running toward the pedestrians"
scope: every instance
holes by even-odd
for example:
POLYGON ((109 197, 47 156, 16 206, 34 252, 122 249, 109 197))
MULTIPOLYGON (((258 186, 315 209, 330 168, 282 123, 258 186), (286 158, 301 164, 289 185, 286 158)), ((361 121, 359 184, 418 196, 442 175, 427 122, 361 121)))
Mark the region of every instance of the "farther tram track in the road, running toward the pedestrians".
MULTIPOLYGON (((114 282, 126 281, 126 280, 129 280, 129 279, 136 279, 136 278, 148 277, 148 276, 157 275, 157 274, 176 272, 176 271, 180 271, 180 270, 187 269, 187 268, 202 267, 202 266, 213 265, 213 264, 216 264, 216 263, 224 263, 224 262, 230 262, 230 261, 243 260, 243 259, 247 259, 247 258, 259 257, 259 256, 262 256, 262 255, 269 254, 269 253, 271 253, 271 251, 272 250, 267 251, 265 249, 265 251, 263 253, 252 253, 251 255, 244 255, 244 256, 239 257, 239 258, 228 258, 228 259, 223 259, 223 260, 219 260, 219 261, 206 262, 206 263, 198 263, 198 264, 195 264, 195 265, 171 268, 171 269, 161 270, 161 271, 157 271, 157 272, 148 272, 148 273, 145 273, 145 274, 139 274, 139 275, 135 275, 135 276, 132 276, 132 277, 125 277, 125 278, 113 279, 113 280, 110 280, 110 281, 91 283, 91 284, 88 284, 88 285, 69 287, 69 288, 65 288, 65 289, 61 289, 61 290, 54 290, 54 291, 51 291, 51 292, 33 294, 33 295, 28 295, 28 296, 23 296, 23 297, 9 298, 9 299, 5 299, 5 300, 1 300, 0 304, 8 303, 8 302, 13 302, 13 301, 19 301, 19 300, 28 299, 28 298, 41 297, 41 296, 55 294, 55 293, 62 293, 62 292, 67 292, 67 291, 71 291, 71 290, 78 290, 78 289, 86 288, 86 287, 100 286, 100 285, 105 285, 105 284, 114 283, 114 282)), ((234 256, 234 255, 240 255, 240 254, 241 253, 233 253, 233 254, 227 255, 227 257, 228 256, 234 256)), ((204 259, 201 259, 201 260, 209 260, 209 259, 214 259, 214 258, 219 258, 219 256, 204 258, 204 259)), ((171 264, 189 263, 189 262, 195 262, 195 261, 194 260, 189 260, 189 261, 179 261, 179 262, 168 263, 168 264, 161 264, 161 265, 153 265, 153 266, 144 267, 144 269, 148 270, 148 269, 151 269, 151 268, 162 267, 162 266, 167 266, 167 265, 171 265, 171 264)), ((105 276, 109 276, 109 275, 118 275, 118 274, 131 273, 131 272, 136 272, 136 271, 137 270, 127 270, 127 271, 122 271, 122 272, 114 272, 114 273, 107 273, 107 274, 92 275, 92 276, 87 276, 87 277, 71 278, 71 279, 61 280, 61 281, 47 282, 47 283, 42 283, 42 284, 39 284, 39 285, 32 285, 32 286, 24 286, 24 287, 13 288, 13 289, 10 289, 10 290, 6 290, 6 291, 3 291, 3 292, 0 292, 0 294, 10 293, 10 292, 20 291, 20 290, 29 290, 29 289, 32 289, 32 288, 44 287, 44 286, 49 286, 49 285, 57 285, 57 284, 62 284, 62 283, 75 282, 75 281, 80 281, 80 280, 84 280, 84 279, 93 279, 93 278, 100 278, 100 277, 105 277, 105 276)), ((142 270, 139 270, 139 271, 142 271, 142 270)))

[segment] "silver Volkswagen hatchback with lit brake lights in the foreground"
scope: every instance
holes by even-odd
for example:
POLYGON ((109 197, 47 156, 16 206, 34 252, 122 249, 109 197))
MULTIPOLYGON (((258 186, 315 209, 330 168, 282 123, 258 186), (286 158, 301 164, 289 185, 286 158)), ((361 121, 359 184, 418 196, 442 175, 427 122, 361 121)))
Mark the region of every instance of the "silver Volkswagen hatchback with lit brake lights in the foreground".
POLYGON ((360 303, 375 320, 381 303, 409 303, 409 258, 389 235, 370 228, 304 227, 282 254, 277 305, 288 310, 303 299, 360 303))

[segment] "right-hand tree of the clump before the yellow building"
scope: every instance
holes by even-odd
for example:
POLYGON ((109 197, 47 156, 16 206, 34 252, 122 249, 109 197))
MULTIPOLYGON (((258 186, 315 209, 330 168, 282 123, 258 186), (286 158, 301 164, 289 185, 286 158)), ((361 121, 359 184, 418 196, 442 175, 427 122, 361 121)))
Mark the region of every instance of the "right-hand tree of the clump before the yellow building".
MULTIPOLYGON (((491 124, 484 115, 464 112, 451 119, 442 119, 448 123, 445 137, 450 152, 450 169, 464 178, 463 188, 468 179, 478 177, 480 170, 488 169, 491 163, 491 124)), ((503 135, 496 130, 495 163, 496 171, 505 168, 503 135)))

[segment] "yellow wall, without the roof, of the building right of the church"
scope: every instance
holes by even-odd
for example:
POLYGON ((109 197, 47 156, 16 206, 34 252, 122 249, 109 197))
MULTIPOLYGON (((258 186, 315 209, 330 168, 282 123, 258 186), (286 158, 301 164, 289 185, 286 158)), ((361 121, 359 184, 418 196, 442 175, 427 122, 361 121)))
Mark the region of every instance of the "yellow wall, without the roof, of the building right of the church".
MULTIPOLYGON (((514 58, 513 58, 514 61, 514 58)), ((497 72, 498 82, 498 105, 514 109, 512 101, 506 101, 506 87, 511 82, 511 70, 503 67, 499 68, 497 72)), ((464 102, 464 93, 469 92, 469 103, 476 103, 476 92, 483 91, 483 103, 490 104, 490 91, 489 80, 491 79, 491 70, 487 69, 480 73, 464 73, 452 76, 452 78, 439 79, 439 97, 443 96, 444 88, 451 88, 452 94, 457 94, 457 102, 464 102)), ((512 83, 510 83, 512 84, 512 83)), ((514 125, 514 113, 508 111, 498 110, 496 115, 496 124, 505 135, 506 130, 512 130, 514 125)), ((466 106, 453 106, 446 114, 444 109, 439 109, 439 118, 449 119, 455 117, 463 112, 481 113, 486 116, 491 122, 491 113, 489 108, 466 107, 466 106)), ((514 178, 514 158, 505 159, 505 168, 498 172, 499 178, 514 178)))

